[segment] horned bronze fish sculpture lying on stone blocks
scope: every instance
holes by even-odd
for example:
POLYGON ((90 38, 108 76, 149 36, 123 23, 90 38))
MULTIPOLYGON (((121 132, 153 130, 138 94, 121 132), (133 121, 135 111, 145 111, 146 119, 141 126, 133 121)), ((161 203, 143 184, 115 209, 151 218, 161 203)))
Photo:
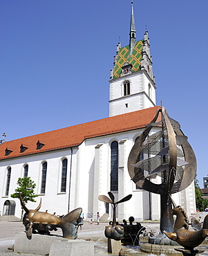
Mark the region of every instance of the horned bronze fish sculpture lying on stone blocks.
POLYGON ((35 210, 28 210, 23 203, 21 196, 19 196, 21 206, 25 210, 23 216, 23 225, 26 227, 26 236, 32 239, 32 233, 39 232, 39 234, 49 235, 50 231, 57 228, 62 228, 63 237, 69 239, 77 238, 77 228, 83 225, 83 219, 80 217, 82 208, 77 208, 66 215, 57 216, 47 212, 39 212, 41 208, 41 201, 35 210))

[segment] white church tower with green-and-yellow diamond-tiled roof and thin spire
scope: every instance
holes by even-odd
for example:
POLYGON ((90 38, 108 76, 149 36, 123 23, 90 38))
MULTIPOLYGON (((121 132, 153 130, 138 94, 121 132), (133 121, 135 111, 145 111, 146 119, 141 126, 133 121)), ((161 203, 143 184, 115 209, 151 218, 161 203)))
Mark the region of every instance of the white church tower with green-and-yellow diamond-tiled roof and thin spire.
POLYGON ((155 79, 152 69, 148 32, 136 41, 131 2, 129 46, 117 44, 110 77, 109 116, 155 107, 155 79))

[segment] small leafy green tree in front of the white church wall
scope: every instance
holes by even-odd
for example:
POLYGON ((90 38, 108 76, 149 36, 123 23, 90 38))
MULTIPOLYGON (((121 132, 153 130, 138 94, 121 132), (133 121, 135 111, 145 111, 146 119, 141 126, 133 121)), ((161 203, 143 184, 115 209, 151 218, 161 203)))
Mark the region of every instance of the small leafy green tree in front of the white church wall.
POLYGON ((28 203, 28 201, 36 202, 34 199, 38 196, 34 192, 36 184, 30 177, 18 178, 17 185, 19 187, 15 189, 14 194, 11 194, 12 198, 19 198, 19 194, 21 194, 21 199, 24 203, 28 203))

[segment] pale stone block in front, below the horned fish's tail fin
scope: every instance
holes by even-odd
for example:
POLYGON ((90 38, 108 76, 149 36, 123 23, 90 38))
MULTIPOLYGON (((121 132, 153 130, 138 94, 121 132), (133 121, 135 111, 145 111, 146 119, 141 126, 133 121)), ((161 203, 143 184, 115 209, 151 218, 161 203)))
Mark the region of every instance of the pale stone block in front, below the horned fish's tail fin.
POLYGON ((68 240, 68 241, 53 241, 50 246, 49 256, 93 256, 94 242, 85 241, 82 239, 68 240))

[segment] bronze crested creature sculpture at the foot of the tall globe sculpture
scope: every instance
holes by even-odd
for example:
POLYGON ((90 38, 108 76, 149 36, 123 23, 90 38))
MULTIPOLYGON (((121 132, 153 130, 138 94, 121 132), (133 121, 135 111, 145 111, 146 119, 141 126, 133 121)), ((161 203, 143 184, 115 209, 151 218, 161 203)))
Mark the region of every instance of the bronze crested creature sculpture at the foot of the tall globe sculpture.
POLYGON ((183 210, 180 205, 176 206, 173 199, 171 199, 171 201, 173 203, 173 215, 176 215, 176 221, 173 226, 173 232, 163 232, 169 239, 177 241, 185 250, 193 250, 193 248, 199 246, 208 236, 208 214, 204 219, 202 228, 200 230, 191 231, 189 230, 185 210, 183 210))

